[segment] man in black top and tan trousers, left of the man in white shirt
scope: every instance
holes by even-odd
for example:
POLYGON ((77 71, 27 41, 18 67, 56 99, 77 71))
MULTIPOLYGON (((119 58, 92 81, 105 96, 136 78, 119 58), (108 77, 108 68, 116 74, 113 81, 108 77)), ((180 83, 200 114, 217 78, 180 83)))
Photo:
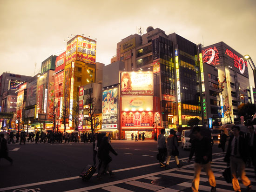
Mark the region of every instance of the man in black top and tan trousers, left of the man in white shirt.
POLYGON ((203 167, 204 171, 207 173, 209 178, 209 184, 211 185, 211 192, 216 192, 216 181, 213 171, 211 169, 211 142, 206 137, 203 137, 201 134, 201 128, 195 126, 192 129, 192 133, 195 136, 195 139, 192 140, 191 151, 189 154, 189 160, 192 159, 195 153, 195 163, 194 163, 194 179, 192 181, 192 191, 198 192, 199 181, 200 181, 200 172, 203 167))

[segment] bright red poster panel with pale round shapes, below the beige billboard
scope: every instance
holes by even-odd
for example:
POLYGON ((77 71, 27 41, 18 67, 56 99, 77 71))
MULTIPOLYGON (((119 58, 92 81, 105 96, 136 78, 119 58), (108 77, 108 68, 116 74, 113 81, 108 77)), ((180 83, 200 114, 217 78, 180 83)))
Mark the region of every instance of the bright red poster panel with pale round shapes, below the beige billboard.
POLYGON ((152 112, 122 112, 121 126, 124 127, 153 127, 152 112))

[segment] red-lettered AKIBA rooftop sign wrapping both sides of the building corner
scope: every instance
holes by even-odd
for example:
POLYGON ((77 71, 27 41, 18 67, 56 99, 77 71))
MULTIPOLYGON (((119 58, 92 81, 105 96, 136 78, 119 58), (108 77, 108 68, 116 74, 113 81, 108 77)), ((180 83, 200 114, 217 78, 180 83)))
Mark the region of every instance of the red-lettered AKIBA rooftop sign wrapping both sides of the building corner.
POLYGON ((202 48, 203 63, 212 66, 228 66, 237 73, 249 78, 247 61, 224 42, 202 48), (232 68, 231 68, 232 67, 232 68))

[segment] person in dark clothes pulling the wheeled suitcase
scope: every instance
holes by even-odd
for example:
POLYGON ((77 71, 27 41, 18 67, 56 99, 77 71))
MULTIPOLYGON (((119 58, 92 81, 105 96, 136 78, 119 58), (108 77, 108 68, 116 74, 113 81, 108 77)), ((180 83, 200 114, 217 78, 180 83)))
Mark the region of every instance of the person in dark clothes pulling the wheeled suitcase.
POLYGON ((112 146, 109 144, 108 137, 104 137, 101 141, 101 145, 99 147, 98 153, 99 153, 99 159, 102 161, 101 169, 98 172, 97 179, 101 180, 101 174, 108 170, 110 176, 114 176, 115 173, 111 171, 109 168, 109 163, 112 161, 112 158, 109 156, 109 152, 112 152, 113 154, 117 155, 115 150, 112 148, 112 146))

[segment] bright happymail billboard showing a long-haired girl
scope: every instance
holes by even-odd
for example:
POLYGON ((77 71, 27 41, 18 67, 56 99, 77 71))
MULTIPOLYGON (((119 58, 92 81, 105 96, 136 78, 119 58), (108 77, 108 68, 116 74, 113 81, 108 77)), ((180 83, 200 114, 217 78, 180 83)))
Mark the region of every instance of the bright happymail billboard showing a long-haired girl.
POLYGON ((154 95, 153 72, 122 72, 121 96, 154 95))

